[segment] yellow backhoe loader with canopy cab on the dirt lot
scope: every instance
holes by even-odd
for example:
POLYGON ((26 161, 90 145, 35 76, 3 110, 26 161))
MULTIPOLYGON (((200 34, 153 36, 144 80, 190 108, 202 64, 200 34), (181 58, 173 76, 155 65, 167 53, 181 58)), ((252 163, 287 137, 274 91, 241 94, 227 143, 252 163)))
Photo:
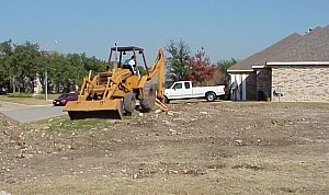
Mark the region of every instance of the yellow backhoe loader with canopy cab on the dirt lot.
POLYGON ((100 72, 91 78, 91 70, 83 79, 78 101, 68 102, 64 111, 71 119, 83 118, 116 118, 122 119, 124 114, 131 115, 134 110, 149 112, 157 105, 168 111, 164 105, 164 56, 158 50, 155 64, 147 66, 144 49, 140 47, 112 47, 109 65, 112 69, 100 72), (132 54, 128 62, 123 57, 132 54), (117 60, 118 55, 118 60, 117 60), (139 56, 138 56, 139 55, 139 56), (112 61, 115 56, 115 62, 112 61), (140 74, 137 57, 143 60, 146 73, 140 74), (152 80, 158 79, 157 88, 152 80))

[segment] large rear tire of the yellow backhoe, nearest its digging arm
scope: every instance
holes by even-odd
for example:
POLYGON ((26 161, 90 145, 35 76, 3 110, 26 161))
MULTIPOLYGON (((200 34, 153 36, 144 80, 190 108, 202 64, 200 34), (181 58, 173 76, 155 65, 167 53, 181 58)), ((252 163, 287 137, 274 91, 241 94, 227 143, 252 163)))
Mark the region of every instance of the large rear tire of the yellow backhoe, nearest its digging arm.
POLYGON ((140 106, 143 112, 150 112, 156 103, 156 90, 150 82, 146 82, 144 85, 144 95, 140 100, 140 106))

